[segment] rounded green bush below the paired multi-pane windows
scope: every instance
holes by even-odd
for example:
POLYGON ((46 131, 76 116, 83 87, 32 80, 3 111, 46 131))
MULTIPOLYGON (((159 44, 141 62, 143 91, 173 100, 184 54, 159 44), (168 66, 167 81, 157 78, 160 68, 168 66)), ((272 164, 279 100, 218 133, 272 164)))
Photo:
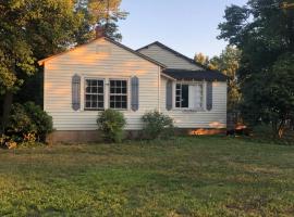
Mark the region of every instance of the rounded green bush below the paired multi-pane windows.
POLYGON ((97 118, 99 129, 107 142, 121 142, 123 140, 123 127, 126 122, 123 114, 115 110, 106 110, 99 113, 97 118))

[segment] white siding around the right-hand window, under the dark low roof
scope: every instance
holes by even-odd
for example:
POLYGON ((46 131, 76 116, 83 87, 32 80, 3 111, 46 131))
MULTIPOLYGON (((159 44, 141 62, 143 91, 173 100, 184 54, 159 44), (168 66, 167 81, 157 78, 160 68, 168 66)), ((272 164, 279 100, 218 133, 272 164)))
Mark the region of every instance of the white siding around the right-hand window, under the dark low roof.
MULTIPOLYGON (((212 110, 211 111, 181 111, 166 107, 167 79, 161 77, 161 112, 174 119, 179 128, 225 128, 226 127, 226 82, 215 81, 212 84, 212 110)), ((173 85, 175 88, 175 81, 173 85)), ((173 90, 173 94, 174 90, 173 90)), ((206 95, 206 92, 205 92, 206 95)), ((174 106, 174 95, 173 95, 174 106)))

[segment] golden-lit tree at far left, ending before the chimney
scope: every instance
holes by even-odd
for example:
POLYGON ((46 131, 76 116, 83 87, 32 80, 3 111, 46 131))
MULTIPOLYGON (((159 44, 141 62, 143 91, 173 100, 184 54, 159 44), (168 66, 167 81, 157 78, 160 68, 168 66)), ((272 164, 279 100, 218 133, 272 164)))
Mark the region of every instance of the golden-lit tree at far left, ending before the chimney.
POLYGON ((71 0, 7 0, 0 2, 1 129, 11 111, 12 95, 27 76, 37 72, 36 60, 73 43, 78 16, 71 0))

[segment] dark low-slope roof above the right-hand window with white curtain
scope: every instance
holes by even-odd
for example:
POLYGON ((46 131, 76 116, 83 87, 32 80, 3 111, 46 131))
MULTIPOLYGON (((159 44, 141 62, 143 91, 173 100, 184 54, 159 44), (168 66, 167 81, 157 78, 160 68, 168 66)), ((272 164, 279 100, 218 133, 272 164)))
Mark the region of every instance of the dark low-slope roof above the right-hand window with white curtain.
POLYGON ((218 71, 186 71, 166 68, 162 71, 166 75, 176 80, 207 80, 207 81, 226 81, 228 77, 218 71))

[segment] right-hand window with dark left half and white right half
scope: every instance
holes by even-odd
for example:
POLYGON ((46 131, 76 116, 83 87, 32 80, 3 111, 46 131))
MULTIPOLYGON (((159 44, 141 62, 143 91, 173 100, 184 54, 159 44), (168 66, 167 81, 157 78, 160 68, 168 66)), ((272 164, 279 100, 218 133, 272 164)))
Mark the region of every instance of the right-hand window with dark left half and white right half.
POLYGON ((204 84, 176 84, 175 107, 189 110, 204 108, 204 84))

